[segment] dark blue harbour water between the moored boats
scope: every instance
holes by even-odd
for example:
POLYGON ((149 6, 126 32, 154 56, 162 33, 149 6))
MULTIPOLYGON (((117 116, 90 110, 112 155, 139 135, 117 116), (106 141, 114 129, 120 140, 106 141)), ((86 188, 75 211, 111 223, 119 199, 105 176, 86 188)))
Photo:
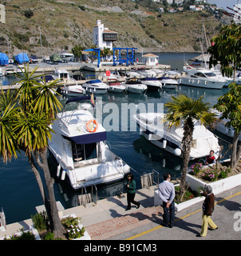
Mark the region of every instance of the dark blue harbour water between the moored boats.
MULTIPOLYGON (((196 55, 199 54, 159 54, 159 63, 168 64, 172 68, 183 71, 182 66, 184 65, 184 60, 187 61, 196 55)), ((136 58, 138 58, 137 55, 136 58)), ((107 102, 116 103, 119 106, 119 110, 121 110, 121 103, 134 103, 136 105, 140 102, 144 102, 145 104, 165 103, 171 100, 172 95, 186 94, 192 98, 199 98, 203 95, 204 102, 210 102, 211 105, 214 105, 217 102, 217 98, 226 92, 227 88, 223 88, 222 90, 204 90, 201 88, 178 86, 177 90, 164 90, 160 94, 105 94, 102 97, 102 102, 104 106, 107 102)), ((65 98, 62 96, 59 96, 59 98, 62 103, 65 102, 65 98)), ((75 104, 71 102, 69 107, 74 108, 76 107, 75 104)), ((103 117, 105 118, 105 116, 103 117)), ((229 138, 224 138, 221 134, 217 135, 229 142, 231 141, 229 138)), ((166 172, 171 173, 172 178, 180 177, 181 158, 175 157, 153 146, 144 138, 140 137, 139 130, 109 131, 107 133, 107 139, 111 150, 132 167, 132 173, 135 175, 138 189, 141 187, 140 175, 144 172, 158 171, 160 173, 160 181, 166 172)), ((220 139, 220 143, 227 146, 227 143, 223 139, 220 139)), ((6 222, 9 224, 30 218, 31 214, 36 213, 35 206, 42 205, 42 201, 38 184, 26 156, 24 154, 18 154, 18 159, 13 159, 7 165, 2 163, 2 159, 0 159, 0 162, 0 207, 5 211, 6 222)), ((56 162, 51 157, 49 157, 49 166, 52 170, 56 168, 56 162)), ((77 195, 80 193, 74 192, 69 184, 56 180, 54 188, 56 200, 60 201, 65 208, 77 206, 77 195)), ((123 190, 123 181, 110 186, 98 186, 98 196, 99 198, 107 198, 114 194, 119 194, 123 190)))

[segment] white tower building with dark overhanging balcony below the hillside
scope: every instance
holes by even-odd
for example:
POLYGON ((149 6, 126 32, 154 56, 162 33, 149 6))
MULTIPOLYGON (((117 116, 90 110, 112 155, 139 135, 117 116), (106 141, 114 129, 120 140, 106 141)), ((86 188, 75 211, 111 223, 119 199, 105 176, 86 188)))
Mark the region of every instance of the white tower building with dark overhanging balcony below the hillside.
POLYGON ((117 32, 109 30, 101 23, 101 20, 97 20, 97 25, 93 28, 93 44, 98 48, 109 48, 113 50, 113 42, 117 41, 117 32))

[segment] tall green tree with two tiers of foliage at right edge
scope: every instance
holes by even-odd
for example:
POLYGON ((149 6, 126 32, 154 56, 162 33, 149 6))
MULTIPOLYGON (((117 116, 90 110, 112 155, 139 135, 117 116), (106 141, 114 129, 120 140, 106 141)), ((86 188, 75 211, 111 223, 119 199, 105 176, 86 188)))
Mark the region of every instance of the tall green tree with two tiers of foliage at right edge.
POLYGON ((231 149, 231 169, 235 169, 241 155, 239 134, 241 133, 241 86, 235 82, 236 70, 241 66, 241 26, 235 24, 223 26, 219 34, 211 38, 212 46, 208 48, 211 55, 209 65, 220 64, 220 70, 228 77, 233 75, 234 82, 228 87, 227 94, 219 97, 215 107, 222 112, 222 117, 229 119, 225 126, 235 131, 231 149), (239 147, 238 147, 239 144, 239 147))

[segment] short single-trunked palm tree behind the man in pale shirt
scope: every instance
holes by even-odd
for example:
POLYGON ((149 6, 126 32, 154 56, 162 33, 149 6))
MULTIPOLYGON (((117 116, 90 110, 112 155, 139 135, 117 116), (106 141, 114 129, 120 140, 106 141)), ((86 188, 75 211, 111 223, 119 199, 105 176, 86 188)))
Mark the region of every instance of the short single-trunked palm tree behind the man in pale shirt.
POLYGON ((192 134, 194 131, 194 121, 197 120, 204 126, 212 126, 217 121, 215 114, 211 112, 209 103, 202 101, 203 96, 197 100, 189 98, 183 94, 177 97, 172 96, 172 102, 167 102, 168 127, 180 126, 184 123, 184 137, 182 139, 183 169, 180 178, 180 195, 184 195, 186 188, 186 175, 188 172, 188 162, 190 157, 192 134))

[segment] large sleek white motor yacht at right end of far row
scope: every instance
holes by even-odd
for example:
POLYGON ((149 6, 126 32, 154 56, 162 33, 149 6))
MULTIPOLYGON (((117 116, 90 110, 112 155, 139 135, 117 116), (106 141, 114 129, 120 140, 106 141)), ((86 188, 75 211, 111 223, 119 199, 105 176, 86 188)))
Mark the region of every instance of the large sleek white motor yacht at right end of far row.
POLYGON ((211 70, 205 68, 195 68, 184 66, 184 71, 188 74, 186 77, 179 78, 178 82, 185 86, 196 86, 207 89, 221 89, 227 81, 216 75, 211 70))

